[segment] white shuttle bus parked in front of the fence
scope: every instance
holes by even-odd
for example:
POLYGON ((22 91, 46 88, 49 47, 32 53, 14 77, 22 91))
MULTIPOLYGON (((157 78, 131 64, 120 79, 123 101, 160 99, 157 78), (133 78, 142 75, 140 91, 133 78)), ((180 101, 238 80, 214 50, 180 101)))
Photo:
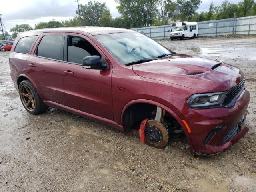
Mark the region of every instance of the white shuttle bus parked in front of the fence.
POLYGON ((172 24, 173 28, 170 32, 170 39, 195 38, 198 36, 197 22, 177 22, 172 24))

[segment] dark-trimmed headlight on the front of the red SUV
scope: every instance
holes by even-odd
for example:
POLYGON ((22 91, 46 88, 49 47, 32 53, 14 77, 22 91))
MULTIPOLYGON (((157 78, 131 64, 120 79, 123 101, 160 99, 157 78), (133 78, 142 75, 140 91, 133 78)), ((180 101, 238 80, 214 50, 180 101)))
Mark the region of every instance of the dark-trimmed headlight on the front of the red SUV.
POLYGON ((186 103, 194 109, 220 107, 226 92, 194 94, 186 103))

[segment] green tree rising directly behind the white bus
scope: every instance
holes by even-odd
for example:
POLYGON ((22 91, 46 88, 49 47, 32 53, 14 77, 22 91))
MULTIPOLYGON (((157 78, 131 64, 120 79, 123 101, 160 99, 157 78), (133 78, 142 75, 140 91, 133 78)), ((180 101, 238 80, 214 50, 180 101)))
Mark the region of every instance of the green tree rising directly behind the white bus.
POLYGON ((186 20, 191 17, 198 6, 202 3, 201 0, 177 0, 181 14, 186 16, 186 20))

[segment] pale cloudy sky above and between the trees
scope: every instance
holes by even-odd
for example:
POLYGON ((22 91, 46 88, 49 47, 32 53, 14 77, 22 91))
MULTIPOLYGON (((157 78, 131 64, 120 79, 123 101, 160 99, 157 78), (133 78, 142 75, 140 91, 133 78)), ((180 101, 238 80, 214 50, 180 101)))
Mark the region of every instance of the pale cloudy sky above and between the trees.
MULTIPOLYGON (((79 0, 79 4, 86 4, 89 0, 79 0)), ((199 12, 208 11, 211 2, 219 6, 223 0, 202 0, 199 12)), ((238 3, 241 0, 230 0, 238 3)), ((106 2, 112 17, 119 16, 114 0, 98 0, 106 2)), ((16 24, 29 24, 32 28, 39 22, 48 22, 73 18, 76 15, 77 2, 75 0, 1 0, 0 14, 8 32, 16 24)))

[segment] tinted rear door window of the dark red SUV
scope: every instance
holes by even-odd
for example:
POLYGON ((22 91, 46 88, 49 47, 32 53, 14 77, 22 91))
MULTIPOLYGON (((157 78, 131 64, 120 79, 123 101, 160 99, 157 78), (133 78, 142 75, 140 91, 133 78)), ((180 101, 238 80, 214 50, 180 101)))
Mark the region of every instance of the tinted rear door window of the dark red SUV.
POLYGON ((39 43, 36 55, 63 60, 64 35, 45 35, 39 43))

